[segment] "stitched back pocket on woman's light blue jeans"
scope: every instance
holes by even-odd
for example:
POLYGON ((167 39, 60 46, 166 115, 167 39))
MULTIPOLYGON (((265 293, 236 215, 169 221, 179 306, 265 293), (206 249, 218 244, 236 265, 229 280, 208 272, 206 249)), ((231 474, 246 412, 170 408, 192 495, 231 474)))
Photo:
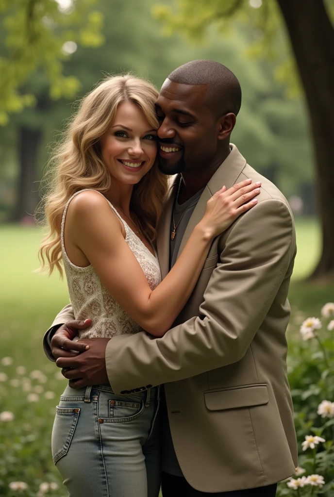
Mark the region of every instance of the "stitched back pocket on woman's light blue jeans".
POLYGON ((57 406, 52 430, 52 457, 56 464, 65 456, 70 448, 72 438, 79 419, 80 409, 67 409, 57 406))

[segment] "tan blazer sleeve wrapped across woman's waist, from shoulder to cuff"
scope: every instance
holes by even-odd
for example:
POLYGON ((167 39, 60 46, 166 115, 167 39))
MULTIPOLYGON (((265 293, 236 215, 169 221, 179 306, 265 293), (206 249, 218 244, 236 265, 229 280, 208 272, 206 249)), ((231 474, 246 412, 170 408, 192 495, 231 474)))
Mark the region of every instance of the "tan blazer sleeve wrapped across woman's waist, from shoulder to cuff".
POLYGON ((294 226, 281 200, 263 200, 231 229, 199 317, 162 338, 113 337, 106 349, 115 393, 196 376, 237 362, 267 314, 294 256, 294 226))

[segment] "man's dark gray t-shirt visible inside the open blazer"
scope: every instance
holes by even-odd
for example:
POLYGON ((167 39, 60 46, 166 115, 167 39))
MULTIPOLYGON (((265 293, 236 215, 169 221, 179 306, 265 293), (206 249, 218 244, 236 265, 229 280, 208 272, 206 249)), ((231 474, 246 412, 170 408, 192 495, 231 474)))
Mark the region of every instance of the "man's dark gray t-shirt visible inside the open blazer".
MULTIPOLYGON (((174 202, 173 215, 174 215, 174 223, 175 226, 179 222, 175 230, 175 237, 173 240, 169 239, 169 269, 173 267, 176 262, 177 253, 181 245, 181 240, 184 235, 187 224, 190 220, 190 217, 196 207, 196 204, 201 196, 204 188, 197 192, 193 197, 189 198, 186 202, 179 205, 177 203, 177 199, 174 202), (183 214, 183 216, 182 216, 183 214), (182 219, 180 220, 182 216, 182 219)), ((174 230, 173 218, 171 218, 170 223, 170 233, 174 230)), ((163 437, 163 471, 165 473, 169 473, 174 476, 183 476, 181 468, 179 467, 177 457, 174 451, 173 442, 171 439, 169 423, 168 423, 168 414, 167 414, 167 406, 165 400, 165 392, 164 389, 162 391, 162 437, 163 437)))

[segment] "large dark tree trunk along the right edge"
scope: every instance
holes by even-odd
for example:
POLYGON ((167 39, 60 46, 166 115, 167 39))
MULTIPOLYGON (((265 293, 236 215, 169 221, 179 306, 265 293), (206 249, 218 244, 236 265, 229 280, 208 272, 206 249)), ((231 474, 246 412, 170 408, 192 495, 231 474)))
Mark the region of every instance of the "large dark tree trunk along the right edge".
POLYGON ((309 107, 322 255, 312 278, 334 279, 334 29, 323 0, 277 0, 309 107))

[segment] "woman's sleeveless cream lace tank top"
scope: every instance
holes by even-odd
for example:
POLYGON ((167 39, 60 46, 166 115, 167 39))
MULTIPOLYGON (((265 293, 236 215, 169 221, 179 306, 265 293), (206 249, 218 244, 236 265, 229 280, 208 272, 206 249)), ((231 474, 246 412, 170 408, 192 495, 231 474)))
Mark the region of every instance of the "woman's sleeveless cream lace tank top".
MULTIPOLYGON (((64 244, 64 226, 67 209, 74 197, 87 190, 90 190, 90 188, 78 191, 69 199, 64 209, 61 229, 64 269, 75 318, 80 320, 89 318, 92 321, 89 328, 78 331, 78 336, 79 338, 111 338, 112 336, 123 333, 136 333, 141 331, 142 328, 108 293, 102 285, 94 268, 91 265, 86 267, 76 266, 70 261, 66 253, 64 244)), ((105 198, 104 195, 102 196, 105 198)), ((156 288, 156 286, 158 286, 161 282, 161 272, 157 257, 154 256, 147 247, 145 247, 140 238, 137 237, 137 235, 121 218, 113 205, 108 200, 107 202, 116 216, 123 223, 126 233, 125 241, 141 265, 151 289, 154 290, 154 288, 156 288)))

